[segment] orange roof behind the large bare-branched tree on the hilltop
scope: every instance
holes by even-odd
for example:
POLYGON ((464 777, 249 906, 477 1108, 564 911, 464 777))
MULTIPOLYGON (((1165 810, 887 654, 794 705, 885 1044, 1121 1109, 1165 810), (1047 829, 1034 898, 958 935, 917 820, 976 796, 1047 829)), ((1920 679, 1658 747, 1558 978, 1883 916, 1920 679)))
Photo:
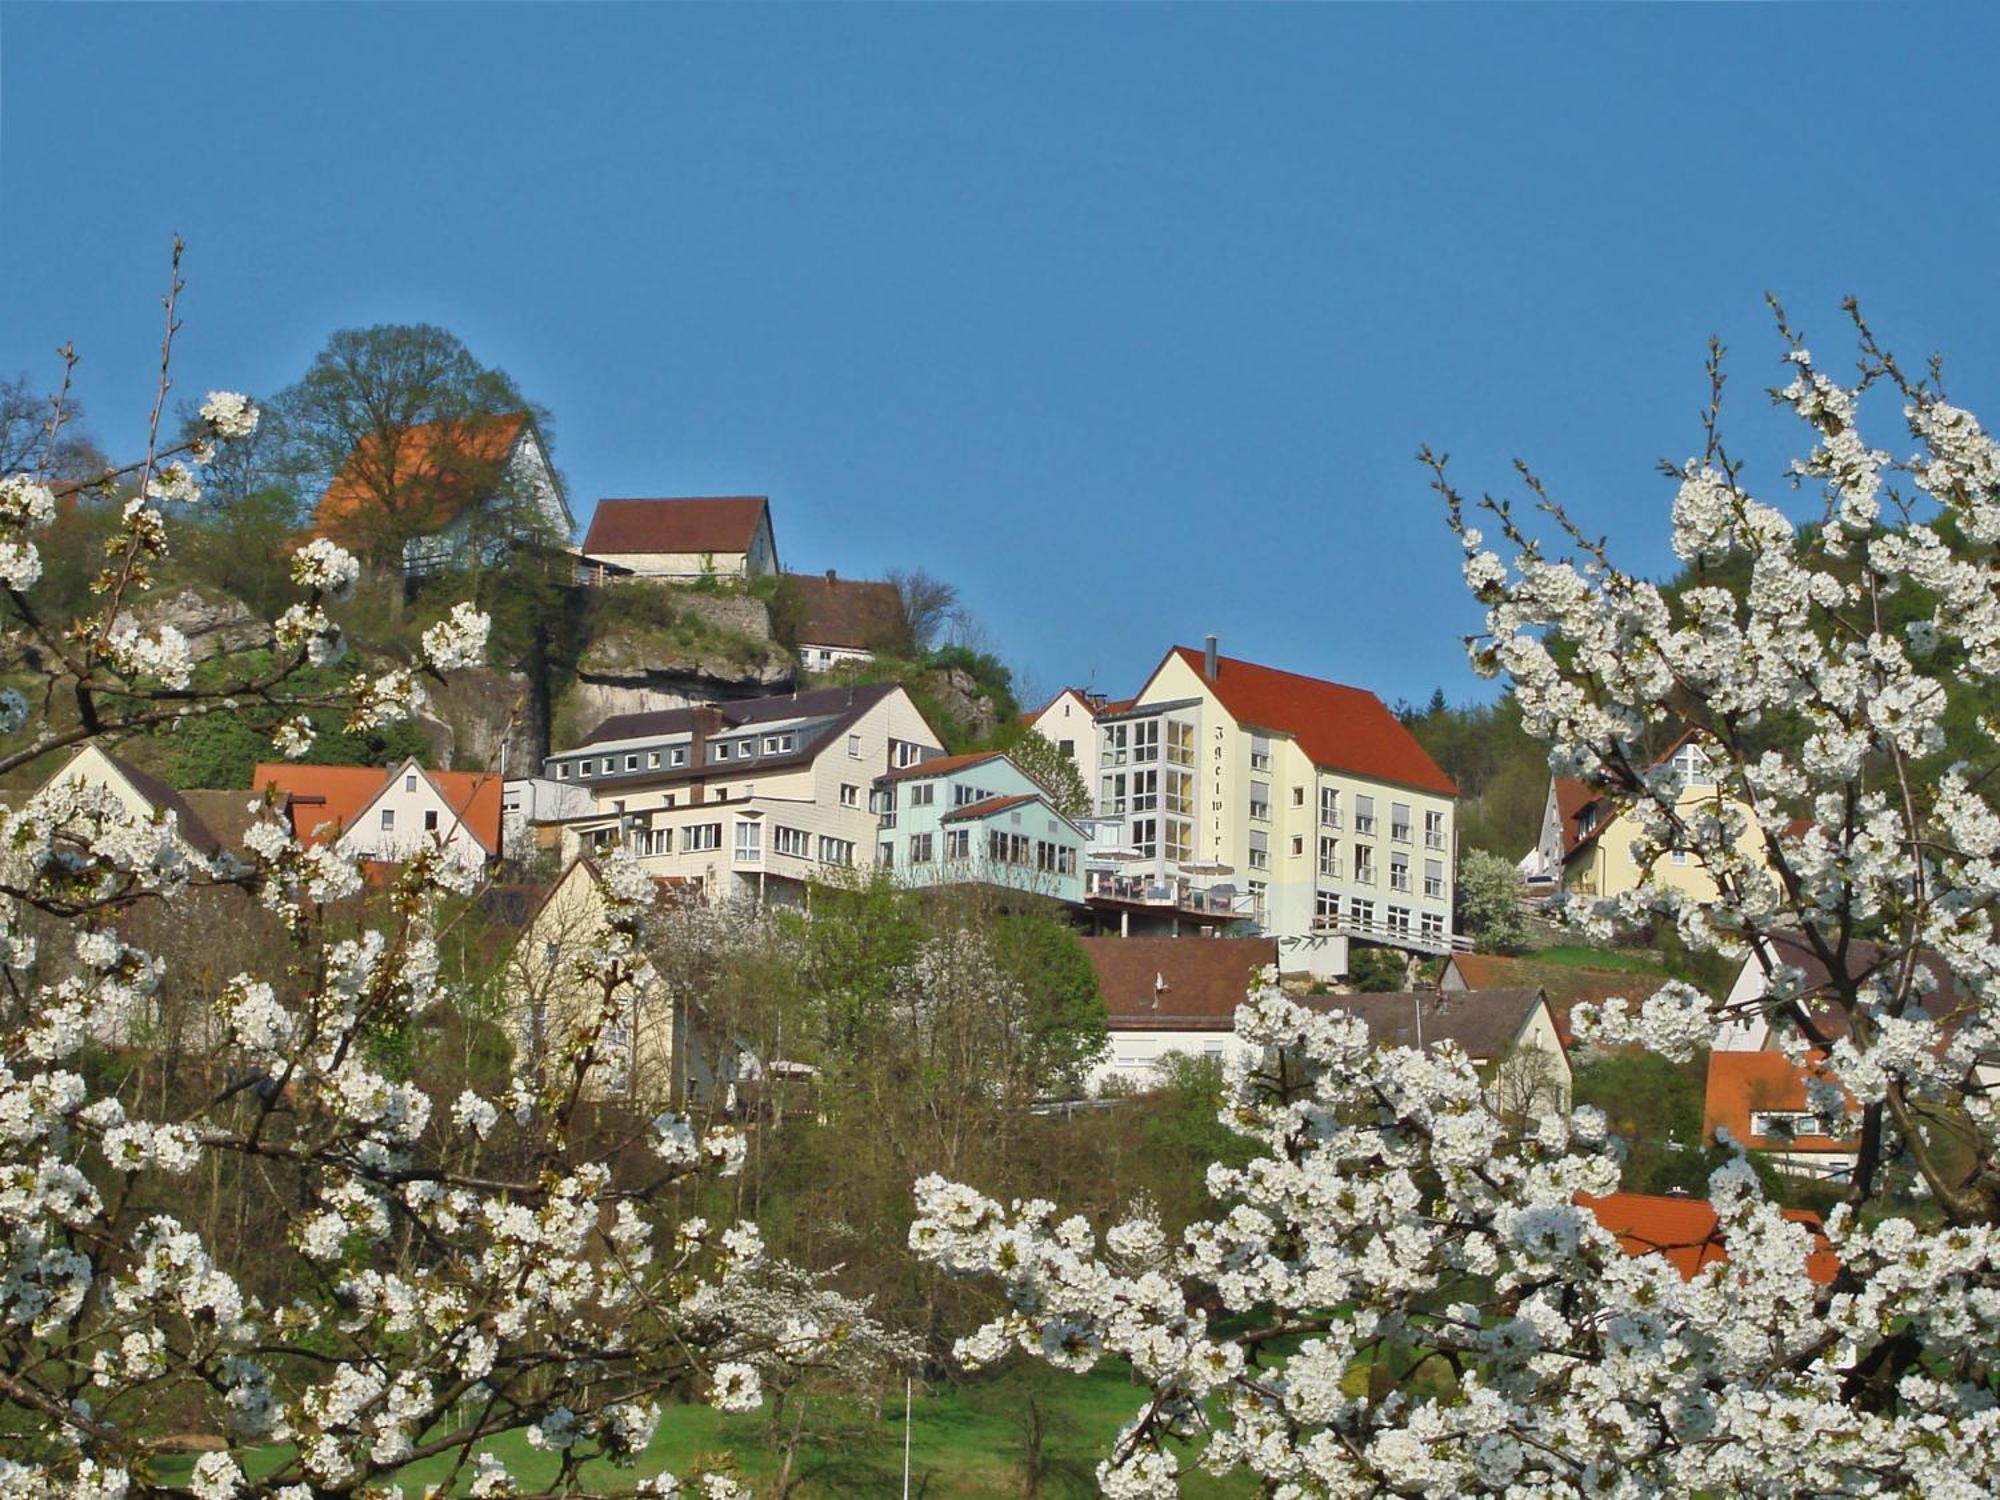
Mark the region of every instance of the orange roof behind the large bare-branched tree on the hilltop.
POLYGON ((526 412, 418 422, 398 434, 392 448, 370 434, 354 444, 326 486, 312 528, 342 544, 366 542, 364 512, 394 490, 398 524, 406 520, 414 532, 440 530, 492 494, 526 424, 526 412))

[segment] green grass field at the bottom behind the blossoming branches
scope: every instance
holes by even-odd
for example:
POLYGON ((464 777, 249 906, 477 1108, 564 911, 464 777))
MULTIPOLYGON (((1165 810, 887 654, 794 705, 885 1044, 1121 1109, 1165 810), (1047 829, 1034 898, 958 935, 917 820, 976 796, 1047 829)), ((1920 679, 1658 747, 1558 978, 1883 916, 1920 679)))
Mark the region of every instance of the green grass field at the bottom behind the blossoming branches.
MULTIPOLYGON (((1140 1388, 1124 1370, 1104 1366, 1088 1376, 1010 1368, 1004 1374, 958 1388, 918 1388, 910 1430, 910 1494, 924 1500, 972 1500, 974 1496, 1030 1494, 1028 1400, 1042 1410, 1040 1496, 1090 1496, 1092 1470, 1110 1450, 1118 1428, 1140 1404, 1140 1388)), ((872 1408, 824 1402, 808 1408, 806 1432, 792 1464, 792 1494, 812 1500, 902 1494, 902 1400, 886 1402, 880 1416, 872 1408)), ((522 1478, 522 1488, 548 1482, 556 1474, 550 1454, 528 1446, 520 1434, 488 1444, 522 1478)), ((248 1468, 268 1474, 286 1460, 272 1448, 252 1456, 248 1468)), ((406 1492, 440 1484, 456 1456, 430 1458, 396 1474, 406 1492)), ((632 1470, 608 1464, 586 1468, 586 1482, 598 1490, 620 1490, 648 1474, 686 1474, 696 1464, 728 1462, 738 1476, 770 1494, 780 1452, 766 1412, 724 1416, 706 1406, 668 1408, 660 1418, 646 1458, 632 1470)), ((160 1466, 160 1478, 184 1478, 192 1460, 160 1466)), ((1246 1478, 1212 1480, 1192 1476, 1182 1494, 1196 1500, 1234 1500, 1256 1486, 1246 1478)))

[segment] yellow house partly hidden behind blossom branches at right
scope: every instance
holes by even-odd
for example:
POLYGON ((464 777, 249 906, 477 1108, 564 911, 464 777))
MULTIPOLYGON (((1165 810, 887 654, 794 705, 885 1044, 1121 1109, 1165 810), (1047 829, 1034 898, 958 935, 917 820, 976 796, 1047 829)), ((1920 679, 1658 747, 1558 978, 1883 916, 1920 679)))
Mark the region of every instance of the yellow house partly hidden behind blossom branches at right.
MULTIPOLYGON (((1680 772, 1676 814, 1688 822, 1720 812, 1742 814, 1744 832, 1736 848, 1762 864, 1766 850, 1756 818, 1746 804, 1724 796, 1700 738, 1692 732, 1680 736, 1654 764, 1668 762, 1680 772)), ((1554 888, 1560 882, 1578 896, 1624 896, 1640 886, 1658 886, 1696 900, 1716 900, 1714 876, 1696 852, 1672 848, 1646 868, 1632 854, 1638 832, 1638 820, 1610 794, 1556 776, 1550 778, 1542 810, 1542 834, 1518 868, 1532 888, 1554 888)))

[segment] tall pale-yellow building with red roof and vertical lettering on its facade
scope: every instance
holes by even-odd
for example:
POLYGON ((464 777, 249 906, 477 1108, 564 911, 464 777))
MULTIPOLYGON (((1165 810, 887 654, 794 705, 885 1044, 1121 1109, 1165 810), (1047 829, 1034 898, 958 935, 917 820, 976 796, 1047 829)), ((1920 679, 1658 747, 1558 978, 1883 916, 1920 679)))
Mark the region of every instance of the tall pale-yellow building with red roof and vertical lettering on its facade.
POLYGON ((1222 656, 1210 636, 1094 724, 1086 896, 1122 930, 1224 918, 1322 978, 1346 972, 1350 940, 1456 946, 1456 788, 1372 692, 1222 656))

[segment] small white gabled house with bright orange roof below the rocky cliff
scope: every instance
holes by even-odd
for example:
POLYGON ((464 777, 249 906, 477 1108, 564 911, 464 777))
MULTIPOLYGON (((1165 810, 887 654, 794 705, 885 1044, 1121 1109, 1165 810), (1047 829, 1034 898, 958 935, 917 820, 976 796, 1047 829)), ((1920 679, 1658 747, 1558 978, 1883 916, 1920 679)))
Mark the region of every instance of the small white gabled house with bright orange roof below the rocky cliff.
POLYGON ((500 858, 500 778, 468 770, 400 766, 300 766, 262 762, 258 792, 272 792, 302 844, 330 842, 342 854, 398 864, 420 848, 444 848, 468 870, 500 858))

